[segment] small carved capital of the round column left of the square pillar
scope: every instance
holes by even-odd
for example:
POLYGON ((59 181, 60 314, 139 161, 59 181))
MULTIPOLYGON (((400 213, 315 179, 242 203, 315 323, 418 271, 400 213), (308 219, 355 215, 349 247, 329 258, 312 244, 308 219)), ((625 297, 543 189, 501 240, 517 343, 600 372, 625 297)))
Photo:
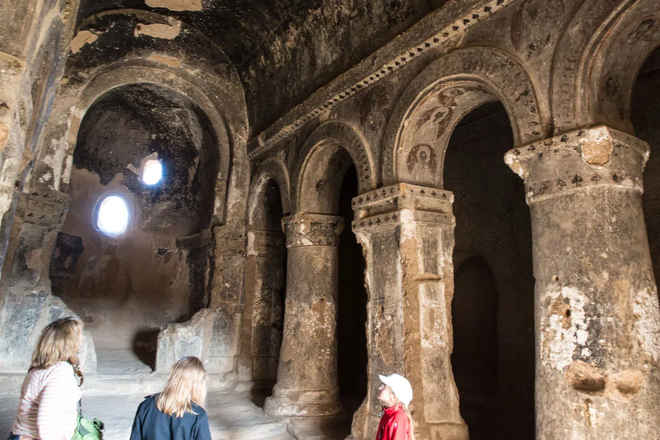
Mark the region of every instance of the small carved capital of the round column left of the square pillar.
POLYGON ((344 229, 340 216, 298 212, 282 218, 286 247, 337 246, 344 229))

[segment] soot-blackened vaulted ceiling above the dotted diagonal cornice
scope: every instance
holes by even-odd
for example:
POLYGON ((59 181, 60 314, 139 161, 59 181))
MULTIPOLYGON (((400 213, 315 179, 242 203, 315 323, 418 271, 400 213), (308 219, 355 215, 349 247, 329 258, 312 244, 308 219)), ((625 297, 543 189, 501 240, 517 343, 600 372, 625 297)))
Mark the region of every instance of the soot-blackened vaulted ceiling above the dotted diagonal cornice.
POLYGON ((246 89, 255 135, 447 0, 82 0, 79 22, 143 9, 195 26, 246 89))

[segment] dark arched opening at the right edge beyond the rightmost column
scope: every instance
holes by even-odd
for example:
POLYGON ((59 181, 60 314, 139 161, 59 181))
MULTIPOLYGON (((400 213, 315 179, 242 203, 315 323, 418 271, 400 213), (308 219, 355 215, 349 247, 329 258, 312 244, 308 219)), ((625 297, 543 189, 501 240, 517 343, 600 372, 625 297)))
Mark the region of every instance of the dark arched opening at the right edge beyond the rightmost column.
POLYGON ((648 142, 651 149, 644 169, 642 207, 646 223, 653 272, 660 276, 660 48, 646 59, 632 94, 631 120, 637 137, 648 142))

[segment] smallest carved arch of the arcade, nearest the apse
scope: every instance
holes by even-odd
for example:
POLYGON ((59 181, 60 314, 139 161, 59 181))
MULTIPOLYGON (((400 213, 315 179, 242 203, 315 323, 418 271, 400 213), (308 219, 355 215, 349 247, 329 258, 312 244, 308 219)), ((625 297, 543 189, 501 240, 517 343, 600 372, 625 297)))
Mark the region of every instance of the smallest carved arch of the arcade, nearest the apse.
POLYGON ((286 215, 290 208, 290 182, 286 166, 277 158, 268 158, 259 164, 252 177, 248 197, 248 226, 257 226, 260 204, 263 203, 264 187, 269 181, 275 181, 281 196, 282 212, 286 215))

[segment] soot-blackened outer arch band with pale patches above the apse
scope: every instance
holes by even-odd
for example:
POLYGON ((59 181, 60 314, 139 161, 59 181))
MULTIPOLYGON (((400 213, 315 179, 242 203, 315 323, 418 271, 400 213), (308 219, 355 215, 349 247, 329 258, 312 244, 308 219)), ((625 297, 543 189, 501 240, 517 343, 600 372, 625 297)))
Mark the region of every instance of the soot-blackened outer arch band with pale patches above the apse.
POLYGON ((65 78, 86 82, 113 65, 168 71, 203 90, 231 129, 248 135, 238 72, 222 48, 194 26, 149 11, 118 9, 82 20, 73 40, 65 78), (113 47, 116 41, 123 44, 113 47))

